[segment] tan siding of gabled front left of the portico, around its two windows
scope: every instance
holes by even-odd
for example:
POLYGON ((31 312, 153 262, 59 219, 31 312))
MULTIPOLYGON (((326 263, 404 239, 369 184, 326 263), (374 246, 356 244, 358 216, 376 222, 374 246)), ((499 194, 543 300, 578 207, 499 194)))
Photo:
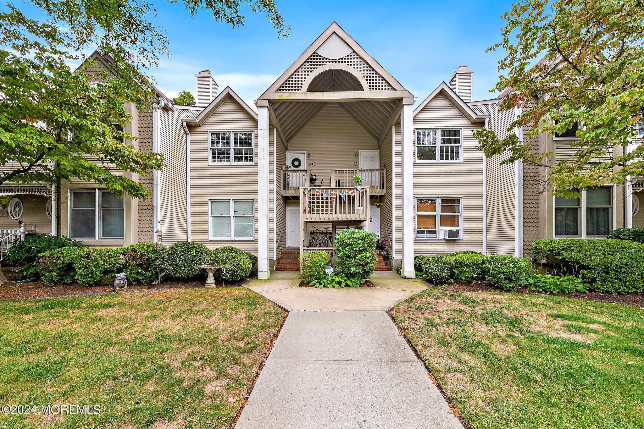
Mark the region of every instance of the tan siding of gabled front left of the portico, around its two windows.
POLYGON ((189 131, 192 240, 205 244, 209 248, 235 246, 256 255, 258 235, 257 120, 234 98, 229 96, 202 125, 189 127, 189 131), (209 131, 252 131, 254 138, 252 165, 209 165, 209 131), (254 239, 209 240, 208 201, 211 199, 252 199, 254 201, 254 239))

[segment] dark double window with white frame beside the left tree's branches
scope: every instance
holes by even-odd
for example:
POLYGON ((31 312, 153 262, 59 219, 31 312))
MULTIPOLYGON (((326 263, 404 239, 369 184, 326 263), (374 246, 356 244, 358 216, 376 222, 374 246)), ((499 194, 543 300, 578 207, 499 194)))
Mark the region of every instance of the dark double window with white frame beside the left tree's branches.
POLYGON ((124 199, 109 190, 70 190, 70 237, 79 240, 124 239, 124 207, 124 199))

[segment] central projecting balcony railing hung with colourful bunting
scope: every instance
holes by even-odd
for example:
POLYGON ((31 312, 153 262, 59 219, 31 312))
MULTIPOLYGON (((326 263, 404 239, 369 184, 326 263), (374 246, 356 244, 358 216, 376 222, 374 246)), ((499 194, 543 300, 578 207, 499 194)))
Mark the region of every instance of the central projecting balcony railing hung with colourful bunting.
POLYGON ((366 221, 369 219, 369 188, 301 188, 303 221, 366 221))

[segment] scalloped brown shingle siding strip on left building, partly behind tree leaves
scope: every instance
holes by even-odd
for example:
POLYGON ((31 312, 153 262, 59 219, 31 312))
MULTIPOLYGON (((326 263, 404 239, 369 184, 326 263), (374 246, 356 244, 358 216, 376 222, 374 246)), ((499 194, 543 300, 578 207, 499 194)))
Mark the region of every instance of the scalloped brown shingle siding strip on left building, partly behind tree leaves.
MULTIPOLYGON (((138 114, 138 150, 153 152, 154 125, 152 109, 144 109, 138 114)), ((138 176, 138 183, 150 191, 145 201, 138 200, 138 241, 153 241, 154 206, 153 206, 153 175, 138 176)))

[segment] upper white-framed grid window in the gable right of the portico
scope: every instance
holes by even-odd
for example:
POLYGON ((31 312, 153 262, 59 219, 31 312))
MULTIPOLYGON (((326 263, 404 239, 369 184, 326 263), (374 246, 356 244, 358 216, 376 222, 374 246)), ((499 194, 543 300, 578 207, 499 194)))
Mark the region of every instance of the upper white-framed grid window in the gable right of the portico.
POLYGON ((462 161, 462 129, 417 129, 416 161, 462 161))

